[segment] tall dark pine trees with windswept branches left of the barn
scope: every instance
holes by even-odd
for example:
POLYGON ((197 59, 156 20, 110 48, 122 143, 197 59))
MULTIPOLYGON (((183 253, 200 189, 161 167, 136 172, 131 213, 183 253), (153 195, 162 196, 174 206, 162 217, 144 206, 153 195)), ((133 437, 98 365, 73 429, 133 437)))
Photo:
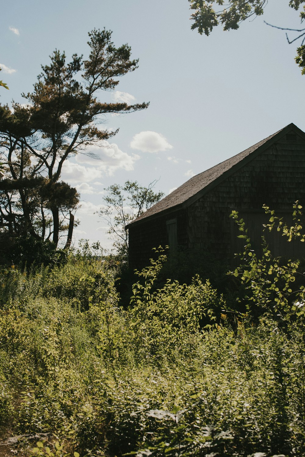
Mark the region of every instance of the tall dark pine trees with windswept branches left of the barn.
MULTIPOLYGON (((102 90, 114 90, 119 78, 133 72, 128 44, 116 48, 112 32, 89 32, 89 56, 77 54, 67 62, 55 49, 50 64, 42 66, 33 92, 22 94, 26 104, 0 104, 0 263, 16 261, 23 247, 29 251, 69 249, 79 194, 61 181, 67 160, 77 154, 97 158, 91 147, 107 147, 118 130, 102 128, 107 114, 127 114, 149 103, 103 103, 102 90), (64 241, 65 239, 65 241, 64 241)), ((1 83, 1 82, 0 82, 1 83)), ((3 85, 3 83, 2 83, 3 85)), ((19 259, 20 260, 20 259, 19 259)), ((18 263, 20 263, 18 261, 18 263)))

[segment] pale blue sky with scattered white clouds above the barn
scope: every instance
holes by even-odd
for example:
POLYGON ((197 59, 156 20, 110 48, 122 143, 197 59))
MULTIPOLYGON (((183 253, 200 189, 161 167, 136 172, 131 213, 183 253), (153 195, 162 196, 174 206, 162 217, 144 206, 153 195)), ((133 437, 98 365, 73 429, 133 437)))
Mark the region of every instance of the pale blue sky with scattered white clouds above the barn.
POLYGON ((70 160, 62 178, 80 191, 75 239, 110 248, 95 211, 104 188, 159 179, 166 194, 194 174, 235 155, 294 122, 305 130, 305 76, 294 63, 296 44, 266 26, 300 28, 288 0, 269 0, 264 16, 237 31, 220 27, 210 37, 191 31, 187 0, 11 0, 1 6, 0 102, 24 102, 41 64, 55 48, 88 55, 87 33, 110 29, 116 46, 128 43, 139 68, 102 101, 150 101, 146 111, 109 117, 120 128, 101 160, 70 160), (13 71, 15 70, 15 71, 13 71), (134 98, 130 98, 134 97, 134 98))

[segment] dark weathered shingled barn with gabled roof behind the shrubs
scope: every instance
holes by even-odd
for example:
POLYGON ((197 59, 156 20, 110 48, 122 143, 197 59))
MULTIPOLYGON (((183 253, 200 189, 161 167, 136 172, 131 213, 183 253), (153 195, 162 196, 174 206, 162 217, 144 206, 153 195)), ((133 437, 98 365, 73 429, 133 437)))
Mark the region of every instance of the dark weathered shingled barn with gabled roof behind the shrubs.
MULTIPOLYGON (((209 252, 230 260, 242 249, 237 210, 246 222, 251 244, 259 249, 262 224, 268 222, 262 205, 292 219, 292 205, 305 206, 305 133, 294 124, 279 130, 240 154, 199 173, 128 224, 129 263, 149 264, 152 248, 170 247, 209 252)), ((300 244, 287 243, 271 232, 274 255, 303 255, 300 244)), ((305 256, 305 255, 304 255, 305 256)))

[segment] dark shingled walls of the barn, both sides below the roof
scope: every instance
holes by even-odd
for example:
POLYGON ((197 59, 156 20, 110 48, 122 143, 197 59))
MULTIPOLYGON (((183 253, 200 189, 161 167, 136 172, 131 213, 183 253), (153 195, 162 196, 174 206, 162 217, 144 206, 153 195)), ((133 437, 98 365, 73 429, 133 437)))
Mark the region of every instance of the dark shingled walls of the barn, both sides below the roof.
MULTIPOLYGON (((178 246, 206 250, 215 258, 227 260, 232 259, 239 246, 235 239, 239 234, 237 227, 229 218, 235 209, 250 221, 249 236, 258 246, 264 218, 263 204, 280 215, 282 212, 287 214, 287 211, 292 213, 296 200, 305 207, 305 140, 299 135, 293 136, 293 141, 288 135, 284 136, 253 156, 252 160, 249 156, 245 165, 185 209, 174 211, 171 208, 166 213, 154 214, 131 225, 130 266, 141 268, 148 265, 151 249, 168 244, 166 221, 174 218, 177 218, 178 246), (254 218, 254 213, 257 213, 257 218, 254 218)), ((273 248, 274 255, 286 254, 282 239, 274 241, 273 248)))

